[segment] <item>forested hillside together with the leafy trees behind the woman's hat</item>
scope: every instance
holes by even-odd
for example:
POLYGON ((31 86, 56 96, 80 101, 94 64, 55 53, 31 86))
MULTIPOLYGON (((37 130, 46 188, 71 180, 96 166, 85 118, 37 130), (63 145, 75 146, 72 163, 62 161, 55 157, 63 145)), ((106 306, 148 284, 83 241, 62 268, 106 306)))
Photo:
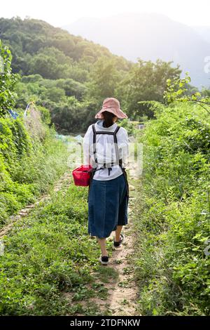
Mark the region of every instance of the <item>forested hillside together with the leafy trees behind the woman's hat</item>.
POLYGON ((137 101, 164 102, 167 79, 181 73, 179 67, 162 60, 153 63, 139 58, 134 64, 40 20, 1 18, 0 39, 13 54, 13 72, 21 77, 15 87, 15 107, 36 101, 50 110, 52 122, 62 133, 84 132, 110 95, 120 100, 132 119, 153 117, 150 106, 137 101))

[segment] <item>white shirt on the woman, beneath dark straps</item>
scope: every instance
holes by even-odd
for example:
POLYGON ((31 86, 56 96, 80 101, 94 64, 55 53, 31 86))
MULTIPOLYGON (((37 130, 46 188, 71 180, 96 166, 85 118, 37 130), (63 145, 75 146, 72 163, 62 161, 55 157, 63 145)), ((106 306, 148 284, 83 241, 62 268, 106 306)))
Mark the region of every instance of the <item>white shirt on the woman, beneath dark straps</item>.
MULTIPOLYGON (((114 123, 109 127, 103 126, 103 120, 98 120, 96 124, 94 124, 96 131, 108 131, 114 132, 118 125, 114 123)), ((119 159, 122 159, 123 167, 127 166, 128 161, 128 136, 127 131, 124 127, 120 127, 118 133, 116 134, 116 138, 118 140, 118 152, 119 159)), ((120 176, 123 171, 120 168, 119 164, 115 164, 116 162, 116 150, 115 144, 113 140, 113 135, 109 134, 97 134, 96 136, 96 151, 97 151, 97 168, 104 166, 104 162, 107 164, 111 164, 113 160, 114 165, 111 167, 111 171, 109 174, 108 169, 101 169, 94 173, 94 180, 112 180, 120 176)), ((93 155, 93 131, 92 125, 87 128, 87 132, 83 138, 83 159, 84 164, 90 164, 92 167, 95 167, 94 163, 94 155, 93 155)))

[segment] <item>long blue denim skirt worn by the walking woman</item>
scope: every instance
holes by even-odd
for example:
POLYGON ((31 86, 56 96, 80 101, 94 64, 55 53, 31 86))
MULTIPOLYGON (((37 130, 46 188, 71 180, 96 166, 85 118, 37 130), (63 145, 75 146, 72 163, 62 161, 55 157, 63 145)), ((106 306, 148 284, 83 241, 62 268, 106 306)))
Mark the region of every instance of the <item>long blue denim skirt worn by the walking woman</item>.
POLYGON ((94 180, 88 200, 88 233, 109 237, 117 225, 127 225, 127 187, 123 174, 112 180, 94 180))

